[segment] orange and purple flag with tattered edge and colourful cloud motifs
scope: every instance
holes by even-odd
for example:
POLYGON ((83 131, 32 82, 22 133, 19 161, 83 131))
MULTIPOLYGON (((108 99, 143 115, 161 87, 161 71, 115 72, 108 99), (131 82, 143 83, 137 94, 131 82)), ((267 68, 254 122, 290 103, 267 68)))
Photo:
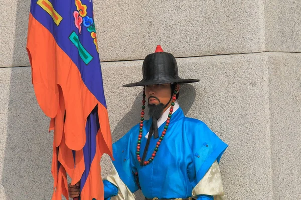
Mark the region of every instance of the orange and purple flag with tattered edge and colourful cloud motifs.
POLYGON ((27 51, 39 106, 54 130, 53 200, 103 199, 100 159, 112 156, 92 0, 31 0, 27 51))

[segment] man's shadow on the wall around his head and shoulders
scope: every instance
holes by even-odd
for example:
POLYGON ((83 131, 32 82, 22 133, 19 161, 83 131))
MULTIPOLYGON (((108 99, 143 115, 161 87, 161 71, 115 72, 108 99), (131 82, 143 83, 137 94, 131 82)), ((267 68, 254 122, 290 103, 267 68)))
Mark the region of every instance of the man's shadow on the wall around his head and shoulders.
MULTIPOLYGON (((192 85, 190 84, 181 85, 178 102, 184 114, 187 114, 187 112, 190 110, 193 102, 195 101, 195 97, 196 97, 196 90, 192 85)), ((134 125, 139 123, 141 106, 142 106, 141 102, 142 102, 142 91, 135 99, 131 110, 126 115, 124 115, 124 117, 120 120, 120 122, 117 124, 114 131, 112 132, 113 142, 120 139, 134 125)), ((136 195, 136 199, 144 199, 144 196, 140 190, 135 192, 135 195, 136 195)))

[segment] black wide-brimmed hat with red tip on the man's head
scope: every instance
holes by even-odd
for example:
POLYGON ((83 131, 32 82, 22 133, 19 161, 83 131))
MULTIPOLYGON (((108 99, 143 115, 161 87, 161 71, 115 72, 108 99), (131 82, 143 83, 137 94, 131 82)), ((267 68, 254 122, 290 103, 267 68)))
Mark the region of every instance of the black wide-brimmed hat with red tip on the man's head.
POLYGON ((192 83, 198 79, 182 79, 178 75, 178 65, 171 53, 163 52, 160 45, 154 53, 145 57, 143 66, 143 79, 139 82, 123 85, 123 87, 146 86, 165 83, 192 83))

